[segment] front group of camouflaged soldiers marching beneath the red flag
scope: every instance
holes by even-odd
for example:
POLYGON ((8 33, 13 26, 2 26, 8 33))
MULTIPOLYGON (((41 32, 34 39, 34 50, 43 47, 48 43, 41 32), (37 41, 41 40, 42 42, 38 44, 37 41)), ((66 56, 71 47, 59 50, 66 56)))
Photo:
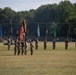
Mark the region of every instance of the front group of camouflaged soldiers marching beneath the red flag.
MULTIPOLYGON (((20 55, 20 52, 21 54, 23 55, 26 55, 27 54, 27 42, 24 41, 24 40, 20 40, 20 38, 17 38, 15 40, 15 43, 14 43, 14 55, 20 55)), ((31 51, 31 55, 33 55, 33 43, 32 41, 30 41, 30 51, 31 51)))

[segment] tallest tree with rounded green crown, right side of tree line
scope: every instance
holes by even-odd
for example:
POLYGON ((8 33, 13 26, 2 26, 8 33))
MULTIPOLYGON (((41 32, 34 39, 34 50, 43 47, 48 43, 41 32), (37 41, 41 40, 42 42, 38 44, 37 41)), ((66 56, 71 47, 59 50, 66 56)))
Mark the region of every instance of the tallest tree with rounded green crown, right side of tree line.
POLYGON ((59 34, 66 35, 69 30, 69 27, 71 27, 70 23, 68 23, 71 19, 73 19, 76 14, 74 11, 74 5, 70 3, 70 1, 61 1, 58 5, 57 8, 57 14, 58 14, 58 21, 60 22, 59 24, 59 34))

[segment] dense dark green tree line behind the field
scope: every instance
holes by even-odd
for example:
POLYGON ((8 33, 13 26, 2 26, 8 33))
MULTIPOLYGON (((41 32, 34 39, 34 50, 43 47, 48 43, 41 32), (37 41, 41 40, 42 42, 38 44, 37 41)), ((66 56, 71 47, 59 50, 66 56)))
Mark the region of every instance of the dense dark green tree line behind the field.
POLYGON ((59 4, 42 5, 36 10, 16 12, 9 7, 0 8, 0 25, 3 28, 3 36, 10 35, 11 24, 13 35, 16 35, 23 19, 27 21, 27 30, 29 36, 37 35, 37 26, 39 24, 41 36, 45 35, 45 29, 48 29, 48 35, 53 32, 53 22, 57 24, 57 36, 76 37, 76 3, 70 1, 61 1, 59 4), (12 23, 11 23, 12 22, 12 23))

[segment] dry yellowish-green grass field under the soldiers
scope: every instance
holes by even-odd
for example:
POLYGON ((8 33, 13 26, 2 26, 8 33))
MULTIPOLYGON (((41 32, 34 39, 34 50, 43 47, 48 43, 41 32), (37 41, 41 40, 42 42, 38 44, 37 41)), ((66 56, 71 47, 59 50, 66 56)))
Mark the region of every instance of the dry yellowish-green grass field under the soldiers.
POLYGON ((70 42, 68 50, 64 48, 64 42, 58 42, 53 50, 48 42, 44 50, 43 42, 39 42, 32 56, 29 48, 27 55, 14 56, 14 46, 8 51, 0 43, 0 75, 76 75, 75 43, 70 42))

